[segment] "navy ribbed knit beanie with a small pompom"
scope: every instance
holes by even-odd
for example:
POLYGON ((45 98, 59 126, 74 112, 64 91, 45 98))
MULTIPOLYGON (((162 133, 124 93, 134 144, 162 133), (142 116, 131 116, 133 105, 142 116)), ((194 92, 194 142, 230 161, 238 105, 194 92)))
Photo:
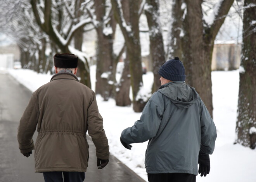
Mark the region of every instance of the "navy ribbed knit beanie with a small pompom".
POLYGON ((172 60, 166 61, 158 70, 158 74, 171 81, 181 81, 184 82, 186 75, 185 75, 185 68, 180 61, 180 58, 175 57, 172 60))

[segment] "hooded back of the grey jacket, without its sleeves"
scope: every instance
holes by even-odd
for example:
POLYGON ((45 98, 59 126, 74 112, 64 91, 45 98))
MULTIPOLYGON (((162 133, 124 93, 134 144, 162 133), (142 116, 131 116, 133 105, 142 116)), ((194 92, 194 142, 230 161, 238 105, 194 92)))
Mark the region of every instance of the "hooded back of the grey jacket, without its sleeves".
MULTIPOLYGON (((162 107, 163 114, 156 135, 149 140, 147 172, 197 175, 202 114, 199 95, 184 82, 170 82, 151 99, 162 107), (154 159, 156 163, 152 163, 154 159)), ((210 127, 214 131, 215 126, 210 127)))

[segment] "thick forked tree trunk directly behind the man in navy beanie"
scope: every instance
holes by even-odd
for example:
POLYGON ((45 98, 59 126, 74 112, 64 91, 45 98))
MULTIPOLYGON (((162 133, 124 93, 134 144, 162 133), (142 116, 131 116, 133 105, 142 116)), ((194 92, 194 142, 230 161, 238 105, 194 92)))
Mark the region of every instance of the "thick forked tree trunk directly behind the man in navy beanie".
MULTIPOLYGON (((195 87, 212 117, 211 58, 214 39, 233 2, 234 0, 221 1, 213 24, 208 25, 204 24, 202 19, 202 0, 185 0, 187 14, 181 28, 183 30, 182 46, 174 45, 177 41, 173 40, 172 42, 173 52, 181 55, 181 60, 185 66, 186 83, 195 87), (182 48, 181 51, 179 51, 180 47, 182 48)), ((176 1, 173 11, 176 12, 180 6, 179 2, 176 1)), ((181 18, 181 14, 177 14, 176 18, 181 18)), ((180 20, 173 21, 173 33, 175 33, 175 29, 177 31, 179 23, 180 20)), ((176 33, 176 36, 180 37, 178 31, 176 33)))

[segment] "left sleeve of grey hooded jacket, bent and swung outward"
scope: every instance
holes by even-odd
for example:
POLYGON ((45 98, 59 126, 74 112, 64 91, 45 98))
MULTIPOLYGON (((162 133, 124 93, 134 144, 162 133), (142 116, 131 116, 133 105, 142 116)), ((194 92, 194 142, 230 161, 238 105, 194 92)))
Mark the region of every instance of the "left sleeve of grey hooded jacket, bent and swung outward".
POLYGON ((162 94, 155 92, 145 105, 140 120, 136 121, 132 127, 123 130, 121 139, 125 143, 141 143, 156 136, 164 112, 161 107, 163 103, 160 104, 160 95, 162 94))

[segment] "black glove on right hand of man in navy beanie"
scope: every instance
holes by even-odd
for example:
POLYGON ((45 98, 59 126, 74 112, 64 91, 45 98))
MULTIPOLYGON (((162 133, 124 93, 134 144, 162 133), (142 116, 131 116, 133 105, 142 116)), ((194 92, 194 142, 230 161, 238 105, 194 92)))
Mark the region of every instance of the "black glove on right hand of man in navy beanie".
POLYGON ((199 154, 198 163, 198 173, 201 173, 201 176, 206 176, 207 174, 209 174, 211 168, 209 154, 199 154))

